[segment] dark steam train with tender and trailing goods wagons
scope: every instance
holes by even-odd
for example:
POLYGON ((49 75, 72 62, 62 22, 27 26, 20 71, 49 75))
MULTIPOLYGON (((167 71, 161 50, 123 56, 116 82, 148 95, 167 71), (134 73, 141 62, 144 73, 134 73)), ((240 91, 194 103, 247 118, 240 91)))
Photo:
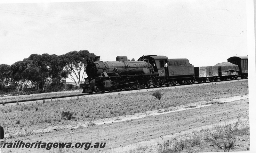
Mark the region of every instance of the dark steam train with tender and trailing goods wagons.
POLYGON ((194 67, 188 59, 168 59, 166 56, 147 55, 138 61, 128 61, 126 56, 117 56, 116 61, 103 62, 100 56, 94 61, 87 59, 83 93, 121 91, 166 87, 177 84, 201 83, 217 80, 242 79, 248 77, 247 57, 231 57, 228 62, 215 66, 194 67), (237 64, 237 65, 236 65, 237 64))

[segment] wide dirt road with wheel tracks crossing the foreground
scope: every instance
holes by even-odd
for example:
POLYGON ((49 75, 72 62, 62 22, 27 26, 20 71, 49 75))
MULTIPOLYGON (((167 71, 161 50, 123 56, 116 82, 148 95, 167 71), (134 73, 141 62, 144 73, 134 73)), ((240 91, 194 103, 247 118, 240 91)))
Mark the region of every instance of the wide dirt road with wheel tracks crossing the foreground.
MULTIPOLYGON (((128 146, 139 142, 148 141, 148 144, 154 139, 162 139, 163 136, 176 135, 190 132, 193 129, 203 126, 212 125, 220 122, 228 122, 230 120, 249 115, 248 99, 232 101, 212 106, 188 109, 169 114, 149 116, 145 118, 108 123, 96 126, 89 126, 83 129, 66 129, 61 131, 48 132, 33 136, 19 137, 23 142, 72 142, 74 146, 77 142, 106 142, 104 149, 91 148, 87 151, 98 152, 111 151, 120 152, 127 151, 128 146), (115 148, 118 148, 116 150, 115 148), (123 148, 123 149, 122 149, 123 148)), ((8 130, 8 129, 7 129, 8 130)), ((17 140, 9 139, 8 142, 17 140)), ((20 148, 20 149, 1 149, 1 152, 60 152, 59 148, 45 150, 42 148, 20 148), (58 151, 59 150, 59 151, 58 151)), ((84 152, 84 148, 64 149, 67 152, 84 152)))

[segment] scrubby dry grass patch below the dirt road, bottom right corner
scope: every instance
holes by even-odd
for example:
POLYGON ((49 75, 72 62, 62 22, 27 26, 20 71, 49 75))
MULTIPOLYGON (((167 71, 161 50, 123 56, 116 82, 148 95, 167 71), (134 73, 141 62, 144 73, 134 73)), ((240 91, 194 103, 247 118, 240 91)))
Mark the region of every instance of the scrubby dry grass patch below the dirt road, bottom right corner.
MULTIPOLYGON (((238 136, 249 134, 249 122, 238 120, 234 124, 216 125, 211 129, 193 131, 185 136, 165 141, 158 145, 158 152, 201 152, 202 150, 196 150, 195 148, 205 147, 226 152, 236 149, 238 136)), ((246 149, 249 150, 248 147, 246 149)), ((202 152, 208 151, 203 150, 202 152)))

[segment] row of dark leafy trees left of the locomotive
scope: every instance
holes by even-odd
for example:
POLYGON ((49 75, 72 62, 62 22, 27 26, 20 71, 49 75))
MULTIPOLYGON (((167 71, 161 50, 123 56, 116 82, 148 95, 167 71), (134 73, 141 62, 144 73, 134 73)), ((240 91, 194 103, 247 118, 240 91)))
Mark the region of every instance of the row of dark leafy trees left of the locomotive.
POLYGON ((33 87, 38 92, 44 92, 49 86, 58 86, 62 89, 67 78, 75 82, 79 88, 85 74, 86 59, 93 60, 94 56, 94 53, 87 50, 72 51, 59 56, 31 54, 12 65, 1 64, 0 90, 22 91, 27 87, 33 87))

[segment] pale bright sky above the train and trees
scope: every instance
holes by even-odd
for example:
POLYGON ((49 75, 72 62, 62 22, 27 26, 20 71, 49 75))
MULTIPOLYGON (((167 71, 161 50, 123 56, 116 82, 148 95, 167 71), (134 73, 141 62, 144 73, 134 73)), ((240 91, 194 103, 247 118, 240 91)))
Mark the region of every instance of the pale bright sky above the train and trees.
POLYGON ((88 50, 103 61, 165 55, 213 66, 248 55, 246 1, 0 4, 0 64, 74 50, 88 50))

